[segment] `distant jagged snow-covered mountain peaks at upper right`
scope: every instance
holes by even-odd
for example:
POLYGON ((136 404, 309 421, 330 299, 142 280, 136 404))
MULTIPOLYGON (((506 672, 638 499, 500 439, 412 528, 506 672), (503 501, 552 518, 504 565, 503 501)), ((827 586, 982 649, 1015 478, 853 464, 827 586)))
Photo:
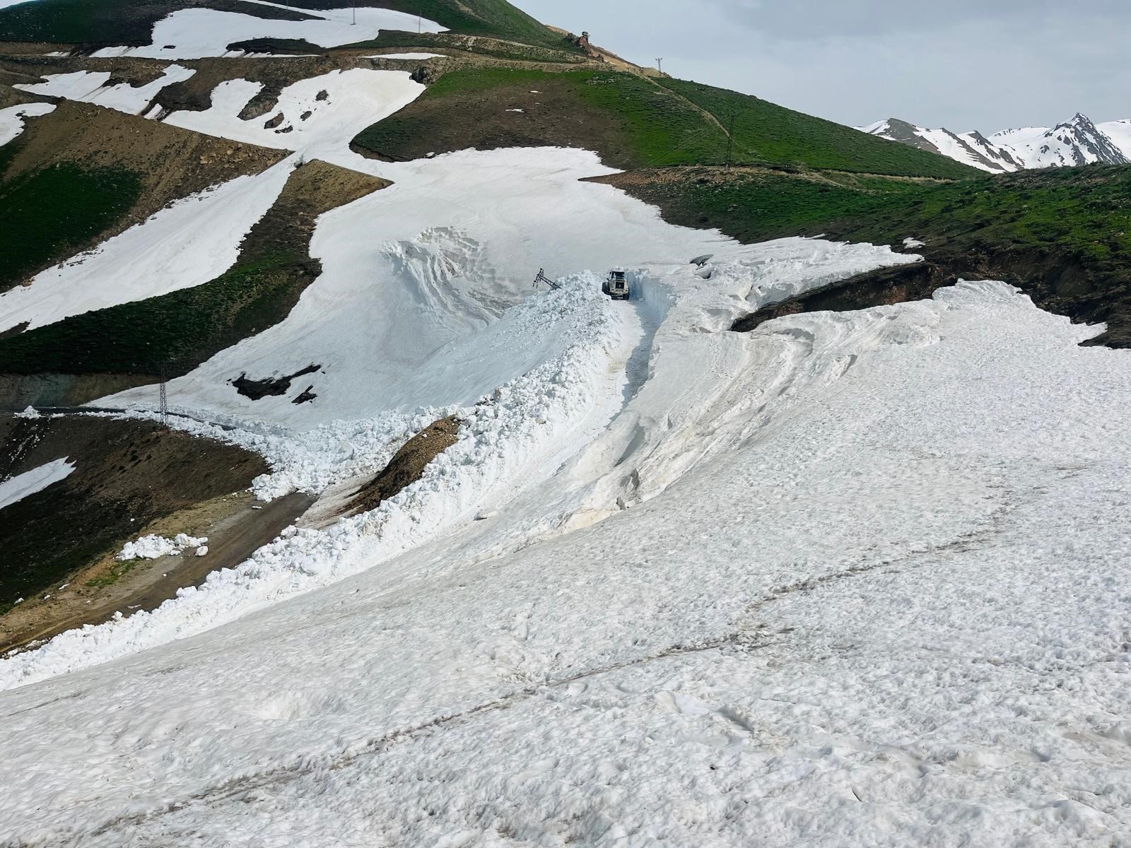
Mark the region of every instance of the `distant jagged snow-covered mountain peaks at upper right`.
POLYGON ((1131 164, 1131 120, 1096 124, 1082 114, 1055 127, 981 132, 924 129, 889 118, 858 130, 949 156, 983 171, 1007 172, 1104 163, 1131 164))

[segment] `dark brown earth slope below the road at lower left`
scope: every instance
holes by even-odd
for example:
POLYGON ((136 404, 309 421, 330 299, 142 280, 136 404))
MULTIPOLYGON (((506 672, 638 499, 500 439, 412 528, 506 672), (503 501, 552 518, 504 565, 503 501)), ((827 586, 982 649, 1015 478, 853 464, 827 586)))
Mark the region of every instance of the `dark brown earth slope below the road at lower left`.
POLYGON ((152 521, 247 488, 245 450, 143 421, 0 417, 0 478, 68 457, 64 481, 0 510, 0 609, 66 582, 152 521))

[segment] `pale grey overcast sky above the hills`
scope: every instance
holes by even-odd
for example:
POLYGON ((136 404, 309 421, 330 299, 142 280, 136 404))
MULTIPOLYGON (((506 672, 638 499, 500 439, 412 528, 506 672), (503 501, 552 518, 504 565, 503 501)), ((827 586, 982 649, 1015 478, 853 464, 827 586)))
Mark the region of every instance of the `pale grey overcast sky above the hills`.
POLYGON ((1131 0, 512 0, 638 64, 849 124, 1131 118, 1131 0))

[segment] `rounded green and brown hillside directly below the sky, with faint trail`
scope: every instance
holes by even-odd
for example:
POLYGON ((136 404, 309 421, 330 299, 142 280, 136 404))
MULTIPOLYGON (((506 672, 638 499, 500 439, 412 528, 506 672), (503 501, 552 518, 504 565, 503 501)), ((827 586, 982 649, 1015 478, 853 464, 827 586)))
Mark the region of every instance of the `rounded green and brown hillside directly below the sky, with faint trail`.
POLYGON ((513 144, 596 149, 620 167, 722 164, 734 112, 736 162, 960 179, 951 159, 884 141, 757 97, 677 80, 663 85, 612 70, 465 69, 356 139, 390 158, 513 144), (543 96, 532 98, 530 92, 543 96), (534 102, 532 102, 534 101, 534 102), (521 116, 507 109, 520 105, 521 116))

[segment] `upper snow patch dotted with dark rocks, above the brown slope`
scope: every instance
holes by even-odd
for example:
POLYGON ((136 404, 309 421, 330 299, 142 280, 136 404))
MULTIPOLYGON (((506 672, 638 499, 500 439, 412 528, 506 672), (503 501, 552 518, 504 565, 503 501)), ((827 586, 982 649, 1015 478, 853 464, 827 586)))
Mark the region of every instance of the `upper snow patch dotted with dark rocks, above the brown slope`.
POLYGON ((366 127, 412 103, 424 92, 424 86, 404 71, 335 70, 287 86, 269 113, 241 120, 240 112, 261 89, 261 83, 227 80, 213 92, 209 109, 173 112, 164 120, 234 141, 302 150, 307 158, 326 158, 335 164, 342 164, 342 159, 364 162, 349 153, 349 141, 366 127), (319 99, 323 92, 326 96, 319 99), (265 127, 278 115, 283 120, 277 127, 265 127))

